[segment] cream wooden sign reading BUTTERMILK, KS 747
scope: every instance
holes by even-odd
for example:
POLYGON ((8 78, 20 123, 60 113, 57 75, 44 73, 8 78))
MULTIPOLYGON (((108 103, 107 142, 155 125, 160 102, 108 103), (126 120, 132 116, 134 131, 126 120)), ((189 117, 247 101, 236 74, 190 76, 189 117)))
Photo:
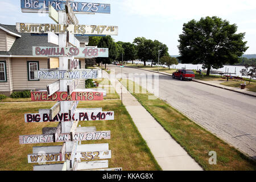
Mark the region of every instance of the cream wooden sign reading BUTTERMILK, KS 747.
POLYGON ((46 34, 71 34, 81 35, 118 35, 118 26, 102 25, 78 25, 78 24, 38 24, 38 23, 16 23, 16 30, 20 33, 46 34))

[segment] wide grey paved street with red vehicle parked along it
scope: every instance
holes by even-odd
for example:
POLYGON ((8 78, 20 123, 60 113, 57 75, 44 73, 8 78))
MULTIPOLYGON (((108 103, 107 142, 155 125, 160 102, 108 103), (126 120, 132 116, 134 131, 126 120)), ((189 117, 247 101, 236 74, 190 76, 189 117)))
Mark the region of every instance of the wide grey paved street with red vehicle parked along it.
POLYGON ((117 77, 129 77, 143 87, 154 84, 156 96, 217 137, 256 159, 256 98, 194 81, 134 68, 108 65, 117 77), (152 75, 158 75, 156 77, 152 75), (129 76, 128 76, 129 75, 129 76), (144 76, 152 79, 145 79, 144 76), (143 77, 143 79, 142 79, 143 77), (154 78, 159 78, 155 82, 154 78), (146 83, 145 83, 146 81, 146 83), (157 93, 159 90, 159 93, 157 93))

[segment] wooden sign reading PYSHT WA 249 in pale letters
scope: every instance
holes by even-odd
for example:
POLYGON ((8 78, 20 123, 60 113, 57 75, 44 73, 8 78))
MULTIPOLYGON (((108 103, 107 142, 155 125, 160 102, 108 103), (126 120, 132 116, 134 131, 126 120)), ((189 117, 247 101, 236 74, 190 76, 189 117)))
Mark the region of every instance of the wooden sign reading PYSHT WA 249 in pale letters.
POLYGON ((58 80, 58 79, 94 79, 99 76, 98 69, 40 69, 34 71, 34 77, 37 80, 58 80))

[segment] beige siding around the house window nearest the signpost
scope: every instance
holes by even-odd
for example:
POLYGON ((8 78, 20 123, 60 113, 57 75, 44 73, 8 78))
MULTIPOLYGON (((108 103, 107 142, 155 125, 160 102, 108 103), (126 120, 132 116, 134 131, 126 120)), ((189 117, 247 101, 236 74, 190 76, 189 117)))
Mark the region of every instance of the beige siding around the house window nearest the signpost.
POLYGON ((13 58, 13 89, 14 90, 46 90, 47 84, 56 80, 28 81, 27 61, 39 61, 39 69, 47 68, 47 59, 13 58))

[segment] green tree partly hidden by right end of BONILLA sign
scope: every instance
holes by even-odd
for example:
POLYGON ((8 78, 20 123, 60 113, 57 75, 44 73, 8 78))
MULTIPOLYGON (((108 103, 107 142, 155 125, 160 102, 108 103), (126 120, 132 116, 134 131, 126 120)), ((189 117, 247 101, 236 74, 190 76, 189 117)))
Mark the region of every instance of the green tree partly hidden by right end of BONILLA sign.
POLYGON ((117 43, 114 42, 114 40, 111 38, 111 36, 104 36, 100 39, 100 42, 98 42, 98 47, 100 48, 109 48, 109 57, 97 57, 96 62, 100 65, 105 64, 105 69, 106 69, 106 64, 110 64, 112 61, 117 59, 118 57, 118 49, 117 49, 117 43))

